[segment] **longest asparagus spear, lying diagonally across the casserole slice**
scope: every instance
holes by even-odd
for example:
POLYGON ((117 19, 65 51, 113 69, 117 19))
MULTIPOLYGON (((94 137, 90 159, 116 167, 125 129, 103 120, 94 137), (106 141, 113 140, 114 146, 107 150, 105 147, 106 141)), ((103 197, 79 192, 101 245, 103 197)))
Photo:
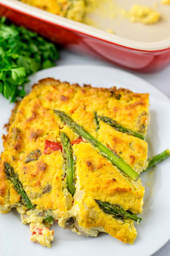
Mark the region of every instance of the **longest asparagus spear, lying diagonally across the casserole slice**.
POLYGON ((84 137, 88 142, 90 142, 93 146, 97 147, 101 154, 104 157, 107 157, 112 164, 116 165, 117 168, 122 170, 125 174, 127 174, 133 180, 138 180, 140 175, 136 173, 129 165, 127 165, 121 157, 119 157, 115 152, 109 150, 108 147, 101 144, 96 138, 91 136, 82 126, 75 123, 70 116, 65 114, 63 111, 54 110, 56 115, 61 119, 63 123, 69 125, 76 133, 78 133, 81 137, 84 137))

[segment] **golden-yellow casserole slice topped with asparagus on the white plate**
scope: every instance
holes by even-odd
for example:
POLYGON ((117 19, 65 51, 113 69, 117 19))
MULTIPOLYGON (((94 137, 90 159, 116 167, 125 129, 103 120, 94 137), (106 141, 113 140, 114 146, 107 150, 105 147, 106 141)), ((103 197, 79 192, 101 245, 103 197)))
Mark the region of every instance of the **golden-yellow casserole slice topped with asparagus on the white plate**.
POLYGON ((145 192, 138 174, 148 166, 148 106, 149 94, 39 81, 3 135, 1 212, 16 207, 31 240, 47 247, 53 221, 132 244, 145 192))

